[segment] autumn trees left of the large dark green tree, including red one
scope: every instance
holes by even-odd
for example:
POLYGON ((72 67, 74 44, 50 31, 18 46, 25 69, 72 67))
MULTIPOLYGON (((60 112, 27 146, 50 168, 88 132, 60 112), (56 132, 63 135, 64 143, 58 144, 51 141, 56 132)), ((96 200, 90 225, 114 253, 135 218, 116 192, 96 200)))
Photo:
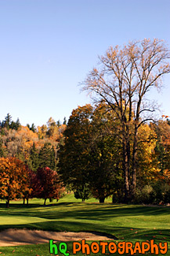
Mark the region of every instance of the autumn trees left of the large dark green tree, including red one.
POLYGON ((8 113, 0 125, 0 198, 9 201, 23 198, 57 199, 63 185, 56 172, 56 152, 63 141, 63 124, 49 118, 47 125, 35 128, 13 121, 8 113), (18 125, 16 125, 18 124, 18 125))

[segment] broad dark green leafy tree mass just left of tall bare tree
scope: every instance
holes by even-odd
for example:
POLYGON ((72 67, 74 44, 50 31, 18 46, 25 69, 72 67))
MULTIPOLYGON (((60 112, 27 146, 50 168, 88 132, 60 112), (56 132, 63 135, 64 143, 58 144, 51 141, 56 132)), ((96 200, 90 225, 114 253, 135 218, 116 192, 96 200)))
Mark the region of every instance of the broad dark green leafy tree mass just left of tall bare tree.
POLYGON ((65 143, 60 146, 60 175, 64 184, 71 184, 75 195, 82 200, 90 190, 99 202, 104 202, 114 193, 116 181, 120 187, 121 155, 118 141, 110 133, 108 120, 112 117, 105 112, 105 106, 74 109, 64 132, 65 143))

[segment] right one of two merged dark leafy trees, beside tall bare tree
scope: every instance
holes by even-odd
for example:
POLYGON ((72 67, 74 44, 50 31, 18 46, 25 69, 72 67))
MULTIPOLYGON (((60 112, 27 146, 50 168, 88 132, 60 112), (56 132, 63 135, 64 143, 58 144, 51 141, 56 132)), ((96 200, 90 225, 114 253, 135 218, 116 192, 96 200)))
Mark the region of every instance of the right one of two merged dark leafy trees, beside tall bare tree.
POLYGON ((107 106, 99 104, 93 110, 89 132, 89 185, 92 195, 104 202, 121 188, 121 145, 118 139, 118 122, 107 106), (116 131, 113 131, 113 125, 116 131))

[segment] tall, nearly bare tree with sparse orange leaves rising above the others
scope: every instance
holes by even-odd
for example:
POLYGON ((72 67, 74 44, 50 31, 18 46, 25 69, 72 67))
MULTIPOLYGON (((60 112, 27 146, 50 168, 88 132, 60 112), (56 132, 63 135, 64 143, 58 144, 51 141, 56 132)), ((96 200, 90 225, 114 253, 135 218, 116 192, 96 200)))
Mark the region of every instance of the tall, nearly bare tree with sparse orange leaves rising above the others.
POLYGON ((155 110, 146 96, 152 87, 161 87, 161 77, 170 72, 169 58, 168 47, 159 39, 129 42, 122 49, 110 47, 99 58, 99 69, 92 69, 83 83, 83 89, 92 92, 97 102, 106 102, 120 122, 125 201, 136 191, 138 130, 152 120, 150 113, 155 110))

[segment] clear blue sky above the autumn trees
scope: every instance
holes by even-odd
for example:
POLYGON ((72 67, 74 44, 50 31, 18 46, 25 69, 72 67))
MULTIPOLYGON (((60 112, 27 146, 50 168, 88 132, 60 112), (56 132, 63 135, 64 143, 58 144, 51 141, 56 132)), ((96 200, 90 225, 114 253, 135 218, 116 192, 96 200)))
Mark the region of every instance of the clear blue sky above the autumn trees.
MULTIPOLYGON (((132 39, 165 39, 169 0, 0 1, 0 120, 45 124, 90 102, 78 83, 107 48, 132 39)), ((170 76, 156 95, 170 115, 170 76)))

